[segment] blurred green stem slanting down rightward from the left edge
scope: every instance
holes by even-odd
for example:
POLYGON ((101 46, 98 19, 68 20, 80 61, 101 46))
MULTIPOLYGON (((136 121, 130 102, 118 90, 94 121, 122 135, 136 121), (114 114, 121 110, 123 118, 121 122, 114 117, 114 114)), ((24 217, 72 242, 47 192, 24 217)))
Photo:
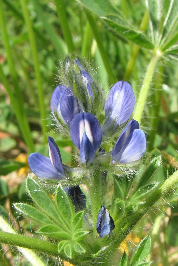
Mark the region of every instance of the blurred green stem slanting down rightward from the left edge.
POLYGON ((22 112, 19 108, 19 105, 11 91, 11 88, 10 88, 10 85, 9 85, 9 82, 2 70, 2 66, 0 64, 0 79, 2 80, 2 83, 4 85, 4 87, 6 88, 6 91, 9 95, 9 98, 10 98, 10 103, 14 109, 14 112, 15 112, 15 115, 17 117, 17 121, 19 123, 19 126, 20 126, 20 129, 21 129, 21 132, 22 132, 22 135, 24 137, 24 140, 29 148, 29 151, 32 153, 34 152, 34 143, 33 143, 33 139, 31 137, 31 132, 30 130, 27 131, 27 127, 25 125, 25 121, 23 119, 23 116, 22 116, 22 112))

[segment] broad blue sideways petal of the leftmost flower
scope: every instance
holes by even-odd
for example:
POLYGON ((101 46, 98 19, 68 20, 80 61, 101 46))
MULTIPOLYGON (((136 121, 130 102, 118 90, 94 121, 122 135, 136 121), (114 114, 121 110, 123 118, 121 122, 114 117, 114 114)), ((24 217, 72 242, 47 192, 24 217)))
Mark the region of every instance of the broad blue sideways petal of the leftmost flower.
POLYGON ((37 176, 45 179, 66 179, 51 163, 50 158, 37 152, 30 154, 28 164, 31 171, 37 176))

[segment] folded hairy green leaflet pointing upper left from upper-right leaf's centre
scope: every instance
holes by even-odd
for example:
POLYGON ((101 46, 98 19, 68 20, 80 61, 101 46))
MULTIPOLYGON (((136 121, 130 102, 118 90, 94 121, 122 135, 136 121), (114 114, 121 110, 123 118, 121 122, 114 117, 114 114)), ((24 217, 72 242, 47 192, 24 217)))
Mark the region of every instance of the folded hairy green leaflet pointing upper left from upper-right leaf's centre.
POLYGON ((155 48, 151 40, 149 40, 141 31, 132 29, 129 25, 124 25, 125 23, 117 23, 117 20, 121 21, 118 16, 112 15, 109 18, 102 17, 101 19, 103 19, 116 34, 119 34, 144 48, 151 50, 155 48))

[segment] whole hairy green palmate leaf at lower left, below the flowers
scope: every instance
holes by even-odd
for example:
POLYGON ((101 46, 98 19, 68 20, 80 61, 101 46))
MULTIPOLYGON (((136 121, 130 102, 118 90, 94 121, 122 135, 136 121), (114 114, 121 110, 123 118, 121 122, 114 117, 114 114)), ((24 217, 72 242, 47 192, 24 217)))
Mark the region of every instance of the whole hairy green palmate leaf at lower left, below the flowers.
POLYGON ((27 190, 35 206, 16 203, 15 208, 23 216, 31 218, 38 225, 36 232, 58 239, 58 251, 62 257, 72 258, 85 253, 81 241, 88 233, 82 228, 84 212, 75 212, 74 205, 61 184, 56 189, 56 199, 33 179, 27 178, 27 190))

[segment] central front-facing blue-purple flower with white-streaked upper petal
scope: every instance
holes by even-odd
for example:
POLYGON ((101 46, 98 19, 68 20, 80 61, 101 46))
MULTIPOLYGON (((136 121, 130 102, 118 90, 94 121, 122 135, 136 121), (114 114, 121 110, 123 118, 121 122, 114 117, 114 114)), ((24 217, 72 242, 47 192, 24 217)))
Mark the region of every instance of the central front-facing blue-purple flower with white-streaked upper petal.
POLYGON ((82 163, 93 163, 95 150, 101 145, 102 131, 97 118, 90 113, 79 113, 71 121, 70 134, 79 149, 82 163))

